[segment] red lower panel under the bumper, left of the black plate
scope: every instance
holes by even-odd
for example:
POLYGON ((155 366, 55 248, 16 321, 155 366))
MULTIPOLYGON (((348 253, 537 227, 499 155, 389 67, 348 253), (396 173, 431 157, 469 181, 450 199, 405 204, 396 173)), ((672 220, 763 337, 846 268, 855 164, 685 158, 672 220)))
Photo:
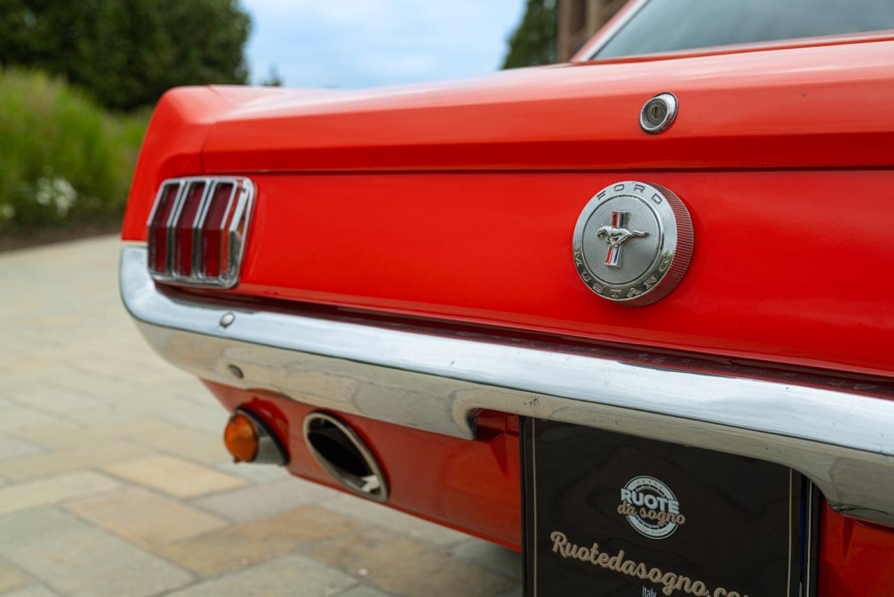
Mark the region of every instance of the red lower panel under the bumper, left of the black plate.
MULTIPOLYGON (((244 406, 264 417, 289 450, 291 473, 342 489, 316 464, 302 435, 305 415, 321 409, 212 382, 206 385, 229 410, 244 406)), ((482 414, 478 437, 469 441, 332 414, 357 431, 378 458, 390 484, 389 506, 520 550, 518 417, 482 414)))

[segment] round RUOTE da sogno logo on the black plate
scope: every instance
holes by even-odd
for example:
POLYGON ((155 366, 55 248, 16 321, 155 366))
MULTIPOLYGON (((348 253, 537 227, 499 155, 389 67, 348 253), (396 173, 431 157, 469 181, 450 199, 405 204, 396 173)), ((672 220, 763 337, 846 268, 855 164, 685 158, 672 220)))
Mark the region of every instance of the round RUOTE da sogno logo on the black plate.
POLYGON ((618 514, 627 516, 638 533, 652 539, 670 537, 686 516, 673 491, 654 477, 634 477, 620 490, 618 514))

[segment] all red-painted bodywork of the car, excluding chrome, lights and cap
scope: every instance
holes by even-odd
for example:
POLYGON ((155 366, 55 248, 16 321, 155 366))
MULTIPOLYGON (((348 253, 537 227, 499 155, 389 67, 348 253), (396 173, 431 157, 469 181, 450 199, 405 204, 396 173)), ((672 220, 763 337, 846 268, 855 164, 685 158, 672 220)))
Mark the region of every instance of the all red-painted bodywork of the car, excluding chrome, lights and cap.
MULTIPOLYGON (((855 36, 389 90, 173 90, 122 239, 146 243, 164 180, 245 176, 257 199, 238 286, 164 292, 889 399, 892 64, 894 37, 855 36), (639 108, 665 90, 679 115, 645 134, 639 108), (687 274, 648 307, 595 297, 570 258, 580 209, 619 180, 671 188, 692 214, 687 274)), ((339 487, 301 431, 321 403, 203 377, 272 427, 292 473, 339 487)), ((388 505, 520 549, 517 414, 478 414, 474 439, 341 417, 383 464, 388 505)), ((822 511, 819 594, 894 594, 894 529, 845 514, 822 511)))

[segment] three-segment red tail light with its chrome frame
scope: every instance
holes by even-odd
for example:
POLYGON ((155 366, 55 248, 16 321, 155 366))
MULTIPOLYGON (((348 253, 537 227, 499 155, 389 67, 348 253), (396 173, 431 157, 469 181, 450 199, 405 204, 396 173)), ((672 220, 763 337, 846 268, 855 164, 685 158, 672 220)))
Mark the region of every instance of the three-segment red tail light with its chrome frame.
POLYGON ((247 178, 164 181, 148 220, 152 277, 193 286, 236 286, 254 194, 247 178))

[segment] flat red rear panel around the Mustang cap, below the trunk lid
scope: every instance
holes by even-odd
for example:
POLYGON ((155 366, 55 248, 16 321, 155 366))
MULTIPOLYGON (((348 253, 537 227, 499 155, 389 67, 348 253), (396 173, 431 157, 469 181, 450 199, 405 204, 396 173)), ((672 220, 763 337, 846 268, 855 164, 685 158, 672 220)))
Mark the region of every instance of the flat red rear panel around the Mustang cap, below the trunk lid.
POLYGON ((889 171, 262 175, 233 292, 672 350, 890 374, 889 171), (571 258, 620 180, 692 215, 679 286, 612 304, 571 258))

